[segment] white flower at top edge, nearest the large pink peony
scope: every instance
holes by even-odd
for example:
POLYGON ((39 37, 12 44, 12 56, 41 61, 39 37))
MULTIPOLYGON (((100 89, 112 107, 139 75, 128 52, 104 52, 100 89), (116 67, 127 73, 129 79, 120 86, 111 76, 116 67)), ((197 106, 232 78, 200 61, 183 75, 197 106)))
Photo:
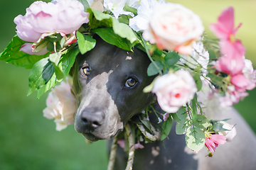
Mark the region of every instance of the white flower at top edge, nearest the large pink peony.
POLYGON ((132 14, 131 12, 124 11, 124 6, 127 4, 128 6, 136 7, 139 0, 105 0, 103 2, 103 6, 112 11, 115 18, 118 18, 120 14, 132 14))

